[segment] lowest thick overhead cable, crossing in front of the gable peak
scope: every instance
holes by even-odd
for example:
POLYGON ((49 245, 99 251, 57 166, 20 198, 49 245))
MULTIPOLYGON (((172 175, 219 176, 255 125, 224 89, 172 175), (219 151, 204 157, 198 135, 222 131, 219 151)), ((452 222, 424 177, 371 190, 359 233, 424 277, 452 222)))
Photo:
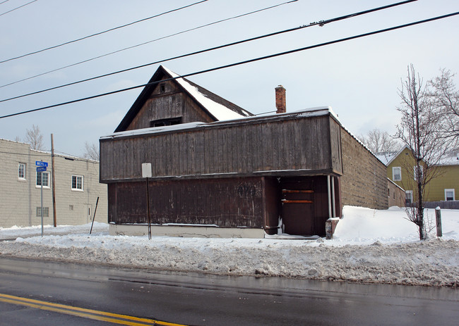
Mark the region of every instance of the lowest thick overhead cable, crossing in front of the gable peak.
POLYGON ((237 65, 244 65, 246 63, 252 63, 252 62, 256 62, 256 61, 266 60, 266 59, 275 58, 275 57, 278 57, 278 56, 285 56, 287 54, 294 54, 294 53, 299 52, 299 51, 306 51, 306 50, 315 49, 315 48, 318 48, 318 47, 321 47, 321 46, 327 46, 327 45, 330 45, 330 44, 336 44, 336 43, 340 43, 340 42, 350 41, 351 39, 359 39, 359 38, 367 37, 367 36, 370 36, 370 35, 381 34, 383 32, 390 32, 392 30, 399 30, 400 28, 410 27, 410 26, 419 25, 419 24, 423 24, 423 23, 429 23, 429 22, 434 21, 434 20, 440 20, 440 19, 448 18, 448 17, 452 17, 454 15, 459 15, 459 11, 457 11, 455 13, 448 13, 447 15, 437 16, 437 17, 434 17, 434 18, 418 20, 417 22, 414 22, 414 23, 407 23, 407 24, 398 25, 398 26, 395 26, 395 27, 388 27, 388 28, 385 28, 383 30, 376 30, 374 32, 368 32, 368 33, 364 33, 364 34, 360 34, 360 35, 354 35, 354 36, 345 37, 345 38, 342 38, 342 39, 335 39, 334 41, 330 41, 330 42, 324 42, 324 43, 320 43, 320 44, 304 46, 302 48, 293 49, 293 50, 285 51, 285 52, 280 52, 280 53, 277 53, 277 54, 270 54, 268 56, 261 56, 261 57, 258 57, 258 58, 252 58, 252 59, 249 59, 249 60, 246 60, 246 61, 239 61, 237 63, 230 63, 228 65, 220 65, 219 67, 209 68, 209 69, 206 69, 206 70, 201 70, 201 71, 198 71, 196 73, 189 73, 189 74, 186 74, 186 75, 180 75, 178 77, 172 77, 172 78, 165 79, 165 80, 160 80, 160 81, 157 81, 157 82, 149 82, 147 84, 141 84, 141 85, 128 87, 128 88, 124 88, 124 89, 118 89, 117 91, 113 91, 113 92, 97 94, 97 95, 88 96, 88 97, 85 97, 85 98, 82 98, 82 99, 75 99, 75 100, 72 100, 72 101, 62 102, 62 103, 59 103, 59 104, 53 104, 53 105, 50 105, 50 106, 43 106, 42 108, 35 108, 35 109, 32 109, 32 110, 28 110, 28 111, 22 111, 22 112, 18 112, 18 113, 11 113, 11 114, 8 114, 8 115, 0 116, 0 119, 9 118, 9 117, 13 117, 13 116, 16 116, 16 115, 22 115, 22 114, 25 114, 25 113, 32 113, 32 112, 36 112, 36 111, 42 111, 42 110, 46 110, 48 108, 56 108, 57 106, 64 106, 64 105, 67 105, 67 104, 78 103, 78 102, 81 102, 81 101, 87 101, 89 99, 96 99, 97 97, 102 97, 102 96, 117 94, 117 93, 121 93, 121 92, 126 92, 126 91, 130 91, 132 89, 146 87, 146 86, 149 86, 149 85, 158 84, 160 82, 165 82, 165 81, 168 81, 168 80, 176 80, 178 78, 190 77, 190 76, 194 76, 194 75, 201 75, 203 73, 210 73, 211 71, 230 68, 230 67, 234 67, 234 66, 237 66, 237 65))

